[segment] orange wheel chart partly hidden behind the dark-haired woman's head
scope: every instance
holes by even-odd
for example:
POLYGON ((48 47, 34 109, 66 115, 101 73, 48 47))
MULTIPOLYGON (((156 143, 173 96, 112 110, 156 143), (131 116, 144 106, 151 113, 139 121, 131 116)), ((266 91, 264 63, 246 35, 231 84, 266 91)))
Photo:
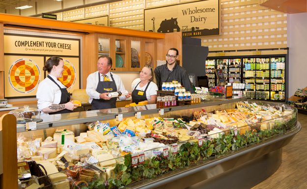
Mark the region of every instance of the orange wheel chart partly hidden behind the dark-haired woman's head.
POLYGON ((63 76, 58 78, 58 80, 62 82, 63 85, 65 85, 68 89, 70 89, 76 81, 76 70, 68 60, 63 59, 63 61, 64 61, 63 76))

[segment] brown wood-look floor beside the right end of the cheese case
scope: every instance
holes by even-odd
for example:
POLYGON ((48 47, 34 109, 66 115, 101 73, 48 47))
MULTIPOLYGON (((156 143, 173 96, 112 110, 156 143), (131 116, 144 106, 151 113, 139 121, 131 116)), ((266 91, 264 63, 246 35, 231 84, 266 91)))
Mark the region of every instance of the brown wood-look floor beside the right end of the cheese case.
POLYGON ((252 189, 307 189, 307 115, 298 120, 302 130, 283 148, 279 169, 252 189))

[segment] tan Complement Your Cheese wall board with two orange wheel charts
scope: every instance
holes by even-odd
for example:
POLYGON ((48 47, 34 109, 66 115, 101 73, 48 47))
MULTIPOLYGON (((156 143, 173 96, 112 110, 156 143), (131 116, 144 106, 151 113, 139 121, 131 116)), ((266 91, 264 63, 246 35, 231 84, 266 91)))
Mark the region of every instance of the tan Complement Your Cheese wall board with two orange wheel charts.
POLYGON ((51 56, 63 58, 64 71, 59 80, 68 92, 80 88, 80 39, 47 35, 4 32, 4 69, 7 70, 4 72, 5 97, 35 96, 38 84, 46 76, 42 71, 44 64, 51 56))

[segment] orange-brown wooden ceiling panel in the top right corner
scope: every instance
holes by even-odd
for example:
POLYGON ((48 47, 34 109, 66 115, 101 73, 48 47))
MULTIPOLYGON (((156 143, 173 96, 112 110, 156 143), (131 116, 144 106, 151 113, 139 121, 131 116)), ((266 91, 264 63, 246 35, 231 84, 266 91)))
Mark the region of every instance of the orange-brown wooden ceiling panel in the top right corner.
POLYGON ((267 0, 260 5, 288 14, 307 12, 307 0, 267 0))

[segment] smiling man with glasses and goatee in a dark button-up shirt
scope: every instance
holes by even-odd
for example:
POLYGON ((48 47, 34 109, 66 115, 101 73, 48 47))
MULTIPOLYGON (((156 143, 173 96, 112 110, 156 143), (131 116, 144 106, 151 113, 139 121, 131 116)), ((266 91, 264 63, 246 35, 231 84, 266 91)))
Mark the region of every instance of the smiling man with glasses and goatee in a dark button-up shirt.
POLYGON ((178 81, 186 91, 194 93, 193 86, 187 71, 177 64, 178 50, 170 48, 167 52, 167 64, 158 66, 155 69, 156 82, 159 90, 162 90, 163 82, 178 81))

